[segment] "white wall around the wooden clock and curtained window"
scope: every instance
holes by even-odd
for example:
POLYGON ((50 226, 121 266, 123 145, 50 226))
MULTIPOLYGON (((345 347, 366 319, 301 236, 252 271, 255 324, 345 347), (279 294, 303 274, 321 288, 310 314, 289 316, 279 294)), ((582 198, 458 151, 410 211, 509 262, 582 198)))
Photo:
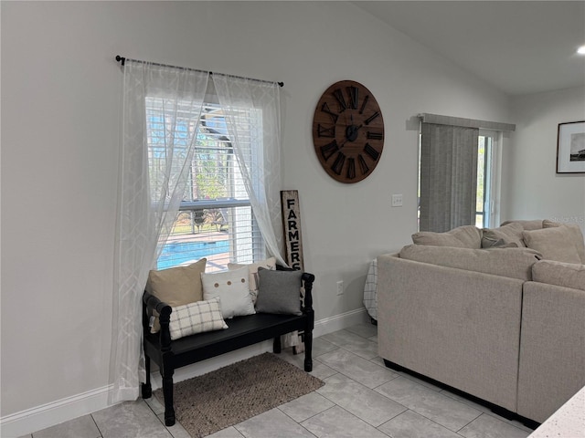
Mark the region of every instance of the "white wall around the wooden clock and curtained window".
POLYGON ((2 2, 2 408, 108 384, 125 57, 284 81, 283 189, 300 193, 316 319, 362 308, 367 264, 416 231, 419 112, 509 120, 508 99, 355 5, 2 2), (353 79, 381 106, 374 172, 336 183, 314 107, 353 79), (402 193, 404 206, 390 196, 402 193), (335 282, 345 294, 336 296, 335 282))

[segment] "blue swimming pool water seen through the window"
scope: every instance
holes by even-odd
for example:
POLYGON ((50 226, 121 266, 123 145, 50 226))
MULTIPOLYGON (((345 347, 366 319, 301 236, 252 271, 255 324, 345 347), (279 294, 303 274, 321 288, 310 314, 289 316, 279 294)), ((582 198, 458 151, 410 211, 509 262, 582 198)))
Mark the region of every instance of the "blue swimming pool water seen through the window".
POLYGON ((188 261, 229 252, 229 240, 217 242, 170 242, 163 247, 158 257, 157 269, 177 266, 188 261))

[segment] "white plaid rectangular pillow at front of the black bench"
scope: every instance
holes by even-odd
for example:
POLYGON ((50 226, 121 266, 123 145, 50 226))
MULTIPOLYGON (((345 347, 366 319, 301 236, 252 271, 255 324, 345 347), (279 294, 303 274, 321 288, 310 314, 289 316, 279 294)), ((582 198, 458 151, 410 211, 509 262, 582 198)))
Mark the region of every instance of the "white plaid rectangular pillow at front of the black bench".
POLYGON ((228 328, 228 324, 221 317, 219 298, 213 298, 173 308, 168 327, 171 339, 175 340, 204 331, 228 328))

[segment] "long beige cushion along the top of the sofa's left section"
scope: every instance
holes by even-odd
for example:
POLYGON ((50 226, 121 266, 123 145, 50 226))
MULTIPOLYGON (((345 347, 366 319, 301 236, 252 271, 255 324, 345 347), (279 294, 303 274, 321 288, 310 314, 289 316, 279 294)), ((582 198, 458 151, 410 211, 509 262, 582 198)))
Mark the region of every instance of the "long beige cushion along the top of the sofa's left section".
POLYGON ((470 249, 431 245, 407 245, 400 258, 432 265, 455 267, 495 276, 532 279, 532 266, 541 256, 529 248, 470 249))

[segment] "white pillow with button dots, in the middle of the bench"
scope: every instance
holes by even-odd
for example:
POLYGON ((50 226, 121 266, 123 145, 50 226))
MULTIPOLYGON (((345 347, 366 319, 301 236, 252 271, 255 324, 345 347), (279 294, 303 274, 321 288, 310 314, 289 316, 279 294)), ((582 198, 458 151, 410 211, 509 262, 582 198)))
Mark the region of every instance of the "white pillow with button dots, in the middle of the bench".
POLYGON ((203 299, 219 298, 223 318, 256 313, 250 296, 250 273, 244 266, 233 271, 201 274, 203 299))

